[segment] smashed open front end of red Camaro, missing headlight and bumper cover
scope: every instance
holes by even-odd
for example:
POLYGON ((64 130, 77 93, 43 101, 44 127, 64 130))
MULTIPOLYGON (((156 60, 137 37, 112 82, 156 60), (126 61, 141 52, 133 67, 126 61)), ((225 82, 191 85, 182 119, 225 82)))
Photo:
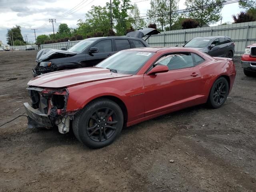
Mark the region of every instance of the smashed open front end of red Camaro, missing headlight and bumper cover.
POLYGON ((24 103, 28 115, 28 127, 52 128, 58 126, 60 133, 69 132, 70 120, 74 113, 66 112, 68 90, 47 89, 29 86, 27 88, 31 98, 31 105, 24 103))

